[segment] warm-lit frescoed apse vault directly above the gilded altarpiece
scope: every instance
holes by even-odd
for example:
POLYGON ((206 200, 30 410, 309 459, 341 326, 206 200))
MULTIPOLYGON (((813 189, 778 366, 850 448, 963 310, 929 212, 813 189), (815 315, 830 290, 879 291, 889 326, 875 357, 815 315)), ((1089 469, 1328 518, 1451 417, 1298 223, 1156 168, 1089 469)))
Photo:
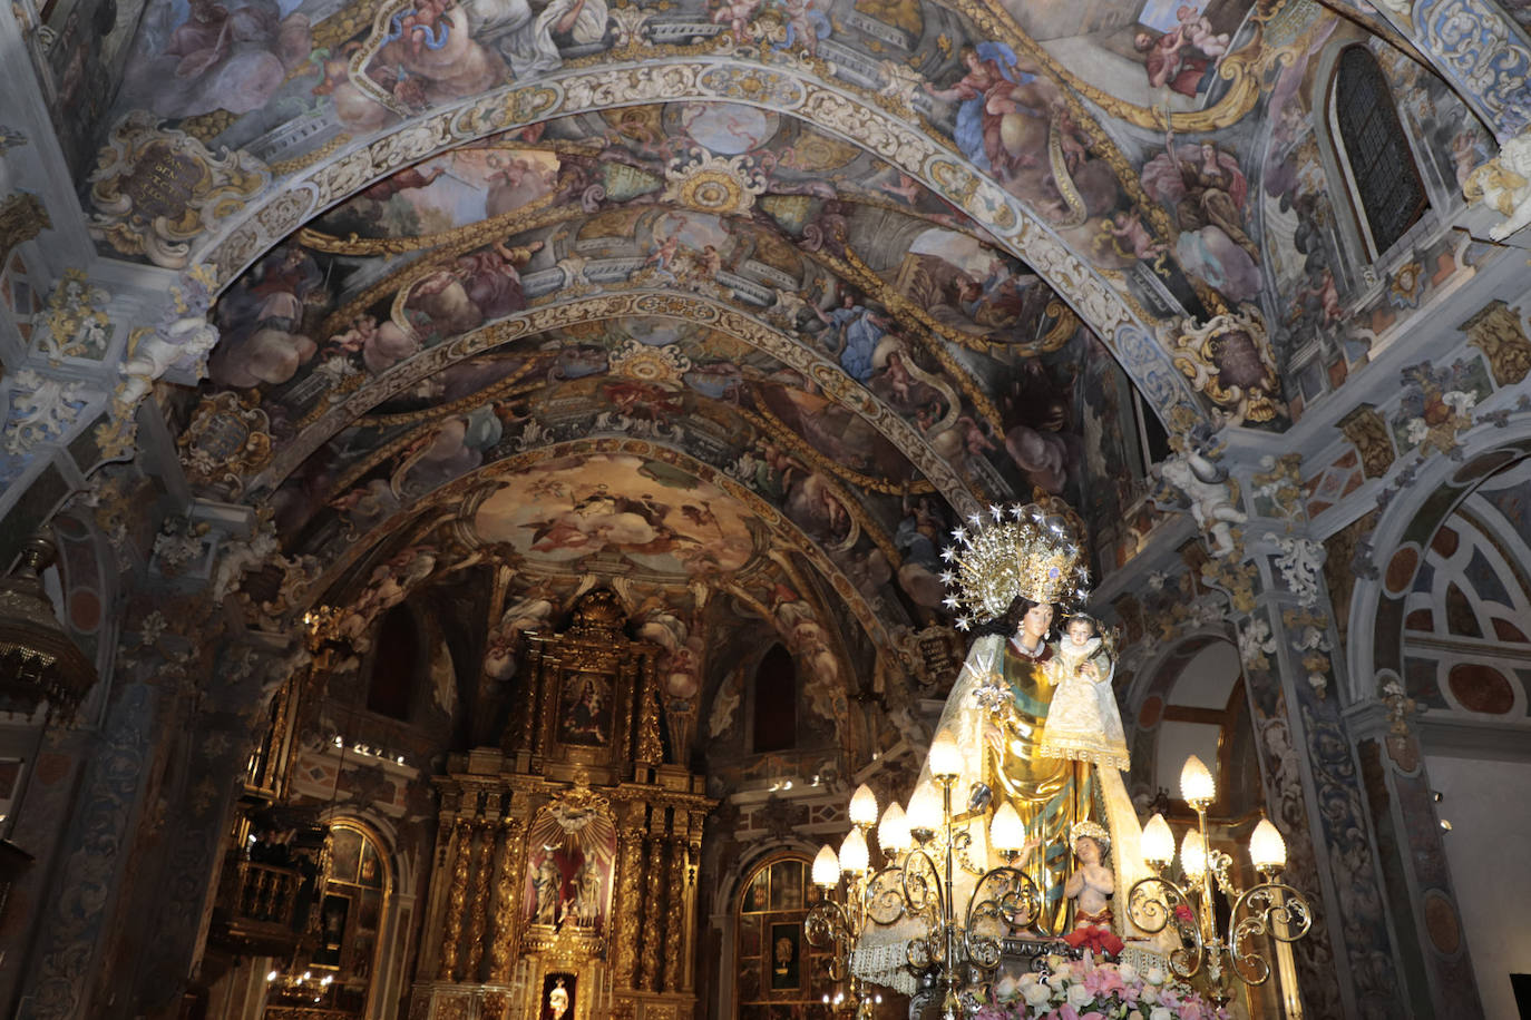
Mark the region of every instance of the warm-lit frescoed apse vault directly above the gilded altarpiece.
POLYGON ((874 662, 871 648, 888 641, 868 598, 879 593, 853 586, 821 543, 727 474, 649 442, 522 454, 442 486, 387 537, 378 531, 343 557, 334 633, 364 653, 386 610, 495 563, 508 581, 484 656, 496 682, 514 676, 519 635, 556 624, 599 581, 626 601, 634 636, 663 648, 668 699, 692 702, 727 670, 704 635, 724 627, 779 641, 802 664, 810 729, 828 745, 848 723, 847 688, 871 679, 845 664, 874 662))

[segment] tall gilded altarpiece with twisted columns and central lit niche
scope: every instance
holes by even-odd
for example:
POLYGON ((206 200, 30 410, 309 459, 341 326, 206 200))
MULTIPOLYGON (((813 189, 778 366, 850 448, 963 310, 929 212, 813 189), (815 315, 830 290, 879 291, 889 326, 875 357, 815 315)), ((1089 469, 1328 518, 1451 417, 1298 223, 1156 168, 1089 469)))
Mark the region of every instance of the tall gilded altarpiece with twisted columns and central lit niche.
POLYGON ((666 745, 655 645, 612 592, 527 635, 498 748, 453 754, 412 1020, 689 1020, 715 801, 666 745))

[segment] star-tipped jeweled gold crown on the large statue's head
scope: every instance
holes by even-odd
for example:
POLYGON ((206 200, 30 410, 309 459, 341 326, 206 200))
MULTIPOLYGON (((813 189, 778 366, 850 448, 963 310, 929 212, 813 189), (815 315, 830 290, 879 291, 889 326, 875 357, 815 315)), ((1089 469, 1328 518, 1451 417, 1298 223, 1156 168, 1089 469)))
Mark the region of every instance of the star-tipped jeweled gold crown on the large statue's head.
POLYGON ((1084 604, 1090 572, 1067 520, 1036 503, 991 506, 989 515, 987 525, 978 514, 969 517, 972 531, 954 531, 955 544, 942 552, 951 564, 942 573, 951 590, 943 606, 958 613, 958 630, 998 619, 1017 595, 1064 607, 1084 604))

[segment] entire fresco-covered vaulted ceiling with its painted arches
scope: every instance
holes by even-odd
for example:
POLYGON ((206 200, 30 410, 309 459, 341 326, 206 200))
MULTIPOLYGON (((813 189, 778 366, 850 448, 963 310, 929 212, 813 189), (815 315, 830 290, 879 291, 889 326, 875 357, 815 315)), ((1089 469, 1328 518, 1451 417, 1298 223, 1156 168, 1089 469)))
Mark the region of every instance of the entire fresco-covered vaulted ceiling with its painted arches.
POLYGON ((753 621, 847 673, 948 622, 961 518, 1059 497, 1115 566, 1142 422, 1286 430, 1484 257, 1352 268, 1338 54, 1430 210, 1491 135, 1309 0, 129 8, 55 12, 92 237, 208 298, 191 479, 358 636, 495 564, 504 641, 617 578, 677 661, 753 621))

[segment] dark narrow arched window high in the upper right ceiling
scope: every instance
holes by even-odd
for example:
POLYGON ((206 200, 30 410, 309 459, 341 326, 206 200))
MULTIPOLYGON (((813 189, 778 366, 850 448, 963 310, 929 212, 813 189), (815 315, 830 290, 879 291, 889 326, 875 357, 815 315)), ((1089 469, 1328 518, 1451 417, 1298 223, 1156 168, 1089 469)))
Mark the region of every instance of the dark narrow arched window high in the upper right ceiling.
POLYGON ((1361 206, 1361 234, 1376 258, 1419 222, 1430 199, 1372 50, 1352 46, 1340 54, 1329 101, 1350 188, 1361 206))

